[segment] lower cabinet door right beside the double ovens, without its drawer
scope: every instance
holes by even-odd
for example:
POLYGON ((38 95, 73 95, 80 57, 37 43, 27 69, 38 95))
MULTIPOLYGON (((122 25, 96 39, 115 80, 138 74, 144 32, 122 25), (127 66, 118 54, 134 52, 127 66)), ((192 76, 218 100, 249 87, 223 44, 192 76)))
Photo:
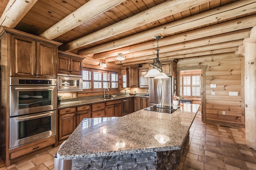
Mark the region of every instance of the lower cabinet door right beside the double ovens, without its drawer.
POLYGON ((76 116, 75 113, 60 115, 59 117, 59 140, 68 138, 75 130, 76 116))

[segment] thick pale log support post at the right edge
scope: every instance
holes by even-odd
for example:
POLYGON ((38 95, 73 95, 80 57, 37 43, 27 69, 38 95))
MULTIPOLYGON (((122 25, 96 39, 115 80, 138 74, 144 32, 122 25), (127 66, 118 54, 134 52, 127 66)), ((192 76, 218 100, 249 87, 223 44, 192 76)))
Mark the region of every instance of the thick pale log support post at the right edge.
POLYGON ((244 104, 246 145, 256 150, 256 43, 244 44, 244 104))

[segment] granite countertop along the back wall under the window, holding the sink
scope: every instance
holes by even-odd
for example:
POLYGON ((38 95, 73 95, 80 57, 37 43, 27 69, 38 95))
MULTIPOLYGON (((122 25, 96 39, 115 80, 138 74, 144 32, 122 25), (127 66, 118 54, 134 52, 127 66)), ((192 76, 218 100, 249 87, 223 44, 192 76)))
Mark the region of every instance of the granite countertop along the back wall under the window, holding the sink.
POLYGON ((88 105, 88 104, 92 104, 92 103, 100 103, 100 102, 105 102, 105 101, 112 101, 112 100, 118 100, 118 99, 124 99, 127 97, 147 97, 144 94, 136 94, 136 95, 129 95, 127 93, 127 95, 120 95, 120 96, 116 96, 114 98, 111 99, 102 99, 102 98, 96 98, 96 99, 86 99, 86 100, 79 100, 79 101, 69 101, 69 102, 62 102, 60 103, 60 105, 58 105, 58 109, 62 109, 62 108, 66 108, 66 107, 75 107, 75 106, 80 106, 80 105, 88 105))

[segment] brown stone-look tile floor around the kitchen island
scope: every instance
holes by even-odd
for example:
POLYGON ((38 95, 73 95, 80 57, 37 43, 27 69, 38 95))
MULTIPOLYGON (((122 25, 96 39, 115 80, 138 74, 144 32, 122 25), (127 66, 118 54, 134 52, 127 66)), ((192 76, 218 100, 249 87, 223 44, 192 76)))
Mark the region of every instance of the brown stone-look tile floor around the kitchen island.
MULTIPOLYGON (((197 114, 178 170, 256 170, 256 150, 246 147, 244 128, 206 124, 197 114)), ((57 148, 24 156, 0 170, 54 170, 57 148)))

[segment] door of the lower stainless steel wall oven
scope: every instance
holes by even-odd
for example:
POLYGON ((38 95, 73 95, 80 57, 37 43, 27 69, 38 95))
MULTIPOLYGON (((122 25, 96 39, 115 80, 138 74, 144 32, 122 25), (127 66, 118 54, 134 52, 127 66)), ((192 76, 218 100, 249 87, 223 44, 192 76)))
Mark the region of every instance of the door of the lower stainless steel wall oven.
POLYGON ((56 110, 10 118, 10 148, 56 134, 56 110))

